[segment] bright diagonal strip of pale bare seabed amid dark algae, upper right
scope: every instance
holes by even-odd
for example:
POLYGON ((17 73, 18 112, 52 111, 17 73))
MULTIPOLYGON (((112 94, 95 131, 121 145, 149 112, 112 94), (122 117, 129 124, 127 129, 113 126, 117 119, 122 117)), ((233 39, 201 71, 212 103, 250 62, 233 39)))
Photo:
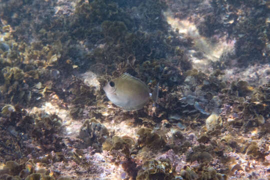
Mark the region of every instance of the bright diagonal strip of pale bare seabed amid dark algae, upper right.
POLYGON ((187 19, 179 19, 177 17, 173 17, 170 11, 163 12, 163 15, 173 30, 176 30, 177 28, 180 34, 191 37, 193 39, 194 48, 196 51, 194 49, 189 49, 188 52, 195 68, 202 66, 206 67, 210 61, 218 60, 224 51, 230 51, 233 49, 235 40, 227 41, 225 37, 216 36, 218 41, 211 42, 210 39, 199 34, 194 22, 191 22, 187 19), (199 59, 193 55, 194 52, 198 51, 203 52, 203 58, 199 59))

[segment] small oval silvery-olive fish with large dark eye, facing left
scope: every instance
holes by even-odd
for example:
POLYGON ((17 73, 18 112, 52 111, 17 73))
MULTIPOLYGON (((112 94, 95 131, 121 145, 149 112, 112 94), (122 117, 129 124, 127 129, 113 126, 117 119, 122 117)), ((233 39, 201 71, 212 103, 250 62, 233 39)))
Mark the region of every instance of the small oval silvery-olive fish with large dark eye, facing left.
MULTIPOLYGON (((152 96, 148 86, 142 80, 126 72, 109 80, 103 90, 112 103, 126 111, 143 108, 152 96)), ((154 94, 158 95, 158 90, 154 94)))

